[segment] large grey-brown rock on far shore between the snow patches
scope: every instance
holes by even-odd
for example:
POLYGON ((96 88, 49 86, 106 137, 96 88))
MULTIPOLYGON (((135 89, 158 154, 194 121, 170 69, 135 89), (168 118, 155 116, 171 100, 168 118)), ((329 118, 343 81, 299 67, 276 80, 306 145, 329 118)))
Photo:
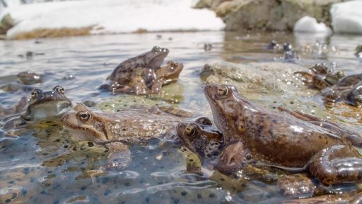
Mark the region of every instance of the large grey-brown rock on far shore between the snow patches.
POLYGON ((329 10, 343 0, 199 0, 197 8, 211 8, 226 30, 293 30, 303 16, 330 26, 329 10))

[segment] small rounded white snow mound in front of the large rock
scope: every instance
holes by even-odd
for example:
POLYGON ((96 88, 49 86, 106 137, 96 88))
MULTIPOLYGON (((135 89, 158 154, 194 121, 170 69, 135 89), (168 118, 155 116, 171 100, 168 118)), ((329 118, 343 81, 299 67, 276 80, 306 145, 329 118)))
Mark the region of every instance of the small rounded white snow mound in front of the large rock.
POLYGON ((325 26, 325 23, 317 23, 317 20, 310 16, 304 16, 300 18, 293 28, 294 32, 300 33, 325 33, 327 35, 332 34, 331 28, 325 26))

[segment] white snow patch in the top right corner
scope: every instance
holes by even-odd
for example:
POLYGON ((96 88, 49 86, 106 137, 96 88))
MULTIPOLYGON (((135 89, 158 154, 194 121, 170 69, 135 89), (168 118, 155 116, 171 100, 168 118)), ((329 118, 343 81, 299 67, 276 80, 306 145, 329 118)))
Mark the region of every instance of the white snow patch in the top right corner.
POLYGON ((362 33, 362 1, 333 4, 330 12, 335 33, 362 33))

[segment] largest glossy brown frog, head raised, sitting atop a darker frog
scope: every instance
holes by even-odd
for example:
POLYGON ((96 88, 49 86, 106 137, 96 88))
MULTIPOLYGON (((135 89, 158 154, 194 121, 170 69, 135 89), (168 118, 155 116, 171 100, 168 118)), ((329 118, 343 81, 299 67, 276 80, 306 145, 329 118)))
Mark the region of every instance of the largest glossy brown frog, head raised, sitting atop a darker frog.
POLYGON ((207 84, 204 94, 226 144, 216 166, 224 174, 252 164, 307 171, 325 185, 362 181, 361 154, 355 148, 361 147, 362 138, 357 132, 297 111, 269 111, 235 86, 207 84))

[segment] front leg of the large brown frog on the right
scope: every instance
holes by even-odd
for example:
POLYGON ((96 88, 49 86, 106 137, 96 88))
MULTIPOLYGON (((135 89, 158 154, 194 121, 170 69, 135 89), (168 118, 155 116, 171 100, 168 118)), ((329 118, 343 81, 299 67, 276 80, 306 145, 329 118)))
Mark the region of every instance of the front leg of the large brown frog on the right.
POLYGON ((232 174, 245 166, 246 152, 242 142, 228 145, 216 165, 216 169, 223 174, 232 174))

